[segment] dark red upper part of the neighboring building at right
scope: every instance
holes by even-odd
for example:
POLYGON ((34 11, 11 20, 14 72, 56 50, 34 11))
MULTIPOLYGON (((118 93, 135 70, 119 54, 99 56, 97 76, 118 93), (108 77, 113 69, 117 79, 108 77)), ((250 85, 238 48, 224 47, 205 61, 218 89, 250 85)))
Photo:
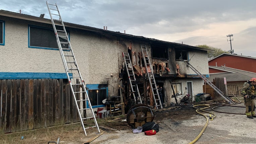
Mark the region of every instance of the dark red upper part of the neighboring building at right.
POLYGON ((208 61, 209 66, 226 66, 256 73, 256 58, 237 54, 223 53, 208 61))

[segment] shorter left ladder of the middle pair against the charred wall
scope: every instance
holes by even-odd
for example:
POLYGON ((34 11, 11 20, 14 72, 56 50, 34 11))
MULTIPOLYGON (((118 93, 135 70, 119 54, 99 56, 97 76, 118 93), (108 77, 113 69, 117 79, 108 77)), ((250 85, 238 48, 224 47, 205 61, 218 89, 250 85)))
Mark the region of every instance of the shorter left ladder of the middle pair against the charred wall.
POLYGON ((131 85, 131 92, 133 94, 135 103, 136 104, 137 103, 142 104, 140 94, 139 94, 139 88, 138 88, 138 85, 136 84, 136 78, 135 78, 135 75, 134 75, 134 71, 133 71, 133 67, 132 67, 132 63, 131 63, 129 53, 124 53, 123 52, 123 57, 124 57, 124 62, 125 62, 125 67, 126 67, 126 71, 127 71, 127 74, 128 74, 129 82, 130 82, 130 85, 131 85), (137 91, 137 99, 136 99, 136 96, 135 96, 135 92, 136 92, 135 90, 137 91))

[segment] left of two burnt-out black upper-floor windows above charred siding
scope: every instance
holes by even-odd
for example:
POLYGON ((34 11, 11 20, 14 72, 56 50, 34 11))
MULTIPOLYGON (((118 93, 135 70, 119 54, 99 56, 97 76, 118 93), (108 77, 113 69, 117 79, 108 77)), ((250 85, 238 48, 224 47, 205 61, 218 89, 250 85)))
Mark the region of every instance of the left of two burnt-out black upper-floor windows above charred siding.
POLYGON ((152 58, 168 59, 168 47, 167 46, 151 46, 152 58))

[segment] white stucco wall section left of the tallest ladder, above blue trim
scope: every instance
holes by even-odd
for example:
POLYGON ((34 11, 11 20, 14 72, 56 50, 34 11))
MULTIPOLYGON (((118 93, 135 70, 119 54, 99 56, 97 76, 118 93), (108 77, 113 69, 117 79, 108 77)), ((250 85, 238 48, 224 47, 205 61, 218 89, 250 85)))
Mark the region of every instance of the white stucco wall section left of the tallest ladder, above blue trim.
POLYGON ((5 45, 0 47, 1 72, 65 72, 59 51, 28 48, 24 20, 5 20, 5 45))

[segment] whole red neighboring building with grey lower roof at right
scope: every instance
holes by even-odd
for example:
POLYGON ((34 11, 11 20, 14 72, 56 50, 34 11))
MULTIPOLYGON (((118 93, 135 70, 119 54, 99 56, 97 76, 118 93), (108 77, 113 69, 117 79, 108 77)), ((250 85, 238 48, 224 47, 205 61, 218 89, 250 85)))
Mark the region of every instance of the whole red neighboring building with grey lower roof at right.
POLYGON ((256 74, 256 58, 237 54, 223 53, 208 61, 210 81, 226 78, 228 94, 240 95, 240 89, 256 74), (232 91, 232 92, 231 92, 232 91))

